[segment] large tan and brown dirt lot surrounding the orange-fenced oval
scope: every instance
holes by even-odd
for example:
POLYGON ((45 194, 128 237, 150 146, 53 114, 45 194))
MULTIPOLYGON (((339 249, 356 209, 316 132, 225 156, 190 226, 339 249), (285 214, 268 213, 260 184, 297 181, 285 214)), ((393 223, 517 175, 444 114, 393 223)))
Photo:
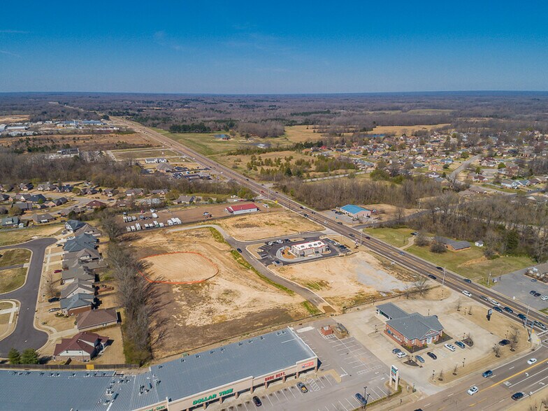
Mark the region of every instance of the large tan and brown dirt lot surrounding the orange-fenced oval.
POLYGON ((194 251, 219 267, 218 275, 200 284, 157 284, 164 293, 159 303, 166 304, 171 336, 156 350, 156 358, 306 316, 302 298, 282 293, 238 264, 231 247, 215 240, 208 228, 140 232, 133 238, 138 258, 194 251))

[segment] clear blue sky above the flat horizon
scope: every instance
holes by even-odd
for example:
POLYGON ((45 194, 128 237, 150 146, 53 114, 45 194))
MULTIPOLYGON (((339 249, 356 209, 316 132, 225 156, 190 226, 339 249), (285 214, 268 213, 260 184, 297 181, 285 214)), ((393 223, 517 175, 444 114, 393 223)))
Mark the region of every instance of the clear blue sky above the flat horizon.
POLYGON ((2 8, 0 92, 548 90, 546 1, 34 0, 2 8))

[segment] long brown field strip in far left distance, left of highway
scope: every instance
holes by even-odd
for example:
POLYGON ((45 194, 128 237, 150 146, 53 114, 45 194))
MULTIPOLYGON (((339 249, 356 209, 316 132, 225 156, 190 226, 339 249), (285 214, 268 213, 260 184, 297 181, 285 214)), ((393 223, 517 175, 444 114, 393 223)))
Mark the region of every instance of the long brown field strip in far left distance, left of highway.
MULTIPOLYGON (((0 145, 12 149, 27 147, 28 137, 6 137, 0 140, 0 145)), ((109 150, 127 147, 157 146, 158 143, 138 133, 133 134, 48 134, 30 138, 30 145, 70 145, 80 150, 109 150)))

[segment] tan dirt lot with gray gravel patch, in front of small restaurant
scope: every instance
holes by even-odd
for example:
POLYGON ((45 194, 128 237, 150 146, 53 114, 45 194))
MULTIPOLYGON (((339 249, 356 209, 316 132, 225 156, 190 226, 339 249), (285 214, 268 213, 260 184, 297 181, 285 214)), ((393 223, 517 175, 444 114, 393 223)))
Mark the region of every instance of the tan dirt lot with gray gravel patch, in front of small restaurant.
POLYGON ((313 289, 341 309, 403 291, 405 282, 367 252, 274 268, 283 277, 313 289), (392 274, 392 275, 389 275, 392 274))

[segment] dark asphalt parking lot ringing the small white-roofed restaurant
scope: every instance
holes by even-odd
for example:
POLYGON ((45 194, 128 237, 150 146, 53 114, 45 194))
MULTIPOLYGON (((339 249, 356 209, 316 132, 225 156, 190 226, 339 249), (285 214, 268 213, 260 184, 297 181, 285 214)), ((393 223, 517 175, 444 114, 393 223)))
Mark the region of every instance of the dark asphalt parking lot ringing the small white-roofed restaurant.
POLYGON ((306 240, 302 240, 302 239, 296 240, 294 238, 293 239, 280 238, 278 240, 273 240, 273 241, 269 241, 268 243, 264 243, 264 245, 262 245, 257 250, 257 254, 259 254, 260 261, 265 266, 268 266, 270 264, 289 265, 289 264, 303 263, 305 261, 312 261, 315 259, 321 259, 326 257, 336 257, 339 254, 344 252, 349 252, 348 248, 345 245, 342 245, 336 241, 333 241, 330 238, 319 238, 319 236, 306 238, 306 240), (302 258, 297 258, 294 261, 290 261, 287 259, 284 259, 284 261, 280 261, 280 259, 276 255, 278 250, 280 250, 283 247, 291 247, 291 245, 294 243, 305 243, 305 242, 317 241, 317 240, 322 240, 324 243, 326 243, 327 247, 329 248, 329 254, 302 257, 302 258))

